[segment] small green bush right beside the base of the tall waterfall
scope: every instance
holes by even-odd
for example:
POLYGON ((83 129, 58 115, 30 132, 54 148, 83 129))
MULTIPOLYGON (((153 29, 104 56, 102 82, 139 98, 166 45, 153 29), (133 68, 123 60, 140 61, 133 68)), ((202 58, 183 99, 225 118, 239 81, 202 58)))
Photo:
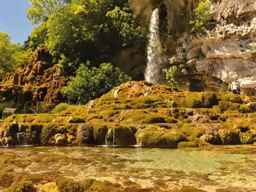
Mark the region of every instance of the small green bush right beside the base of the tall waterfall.
POLYGON ((174 65, 170 67, 168 72, 166 73, 166 82, 170 86, 177 86, 178 82, 178 75, 179 74, 184 74, 186 72, 186 65, 185 64, 180 64, 178 66, 174 65))

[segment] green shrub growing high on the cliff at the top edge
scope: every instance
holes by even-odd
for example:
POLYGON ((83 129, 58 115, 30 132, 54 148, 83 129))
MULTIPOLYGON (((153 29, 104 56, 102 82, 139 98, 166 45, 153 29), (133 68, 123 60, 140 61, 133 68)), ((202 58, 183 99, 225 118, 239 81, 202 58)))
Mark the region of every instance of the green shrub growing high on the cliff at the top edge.
POLYGON ((191 32, 205 32, 207 22, 212 17, 210 14, 210 0, 200 2, 194 12, 196 20, 190 21, 190 24, 193 25, 191 32))

